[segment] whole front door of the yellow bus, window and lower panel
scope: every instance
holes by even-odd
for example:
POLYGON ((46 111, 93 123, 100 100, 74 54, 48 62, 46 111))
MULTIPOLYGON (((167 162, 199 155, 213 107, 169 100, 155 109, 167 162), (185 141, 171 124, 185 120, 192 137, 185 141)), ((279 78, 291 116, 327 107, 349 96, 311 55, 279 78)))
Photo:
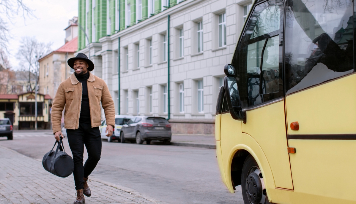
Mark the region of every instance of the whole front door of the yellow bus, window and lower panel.
POLYGON ((257 3, 232 65, 238 70, 241 106, 246 112, 242 132, 262 148, 275 186, 293 189, 283 100, 283 21, 282 0, 257 3))

